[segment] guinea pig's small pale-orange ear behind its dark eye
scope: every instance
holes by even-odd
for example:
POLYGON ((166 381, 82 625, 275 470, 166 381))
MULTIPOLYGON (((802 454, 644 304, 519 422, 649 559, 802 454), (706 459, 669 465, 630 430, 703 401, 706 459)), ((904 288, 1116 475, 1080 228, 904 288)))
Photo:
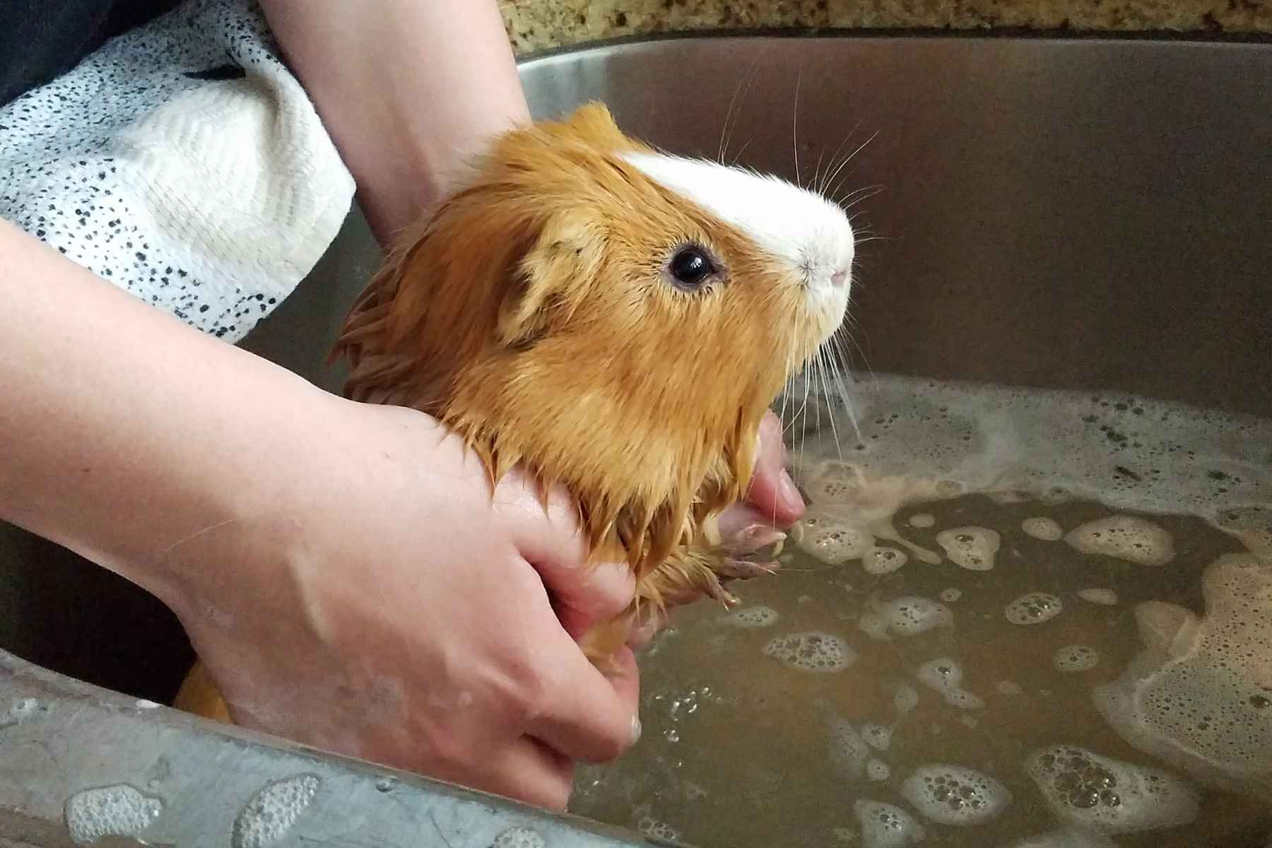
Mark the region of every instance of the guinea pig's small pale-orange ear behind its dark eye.
POLYGON ((579 214, 551 217, 514 272, 499 309, 499 338, 524 347, 569 320, 595 285, 602 236, 579 214))

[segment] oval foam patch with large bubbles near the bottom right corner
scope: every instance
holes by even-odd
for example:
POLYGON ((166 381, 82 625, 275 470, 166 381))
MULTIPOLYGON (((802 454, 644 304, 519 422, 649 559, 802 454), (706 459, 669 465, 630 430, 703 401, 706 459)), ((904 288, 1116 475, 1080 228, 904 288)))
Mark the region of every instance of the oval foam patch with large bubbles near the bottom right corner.
POLYGON ((1197 791, 1151 765, 1102 756, 1076 745, 1033 751, 1025 770, 1053 816, 1102 833, 1159 830, 1192 823, 1197 791))

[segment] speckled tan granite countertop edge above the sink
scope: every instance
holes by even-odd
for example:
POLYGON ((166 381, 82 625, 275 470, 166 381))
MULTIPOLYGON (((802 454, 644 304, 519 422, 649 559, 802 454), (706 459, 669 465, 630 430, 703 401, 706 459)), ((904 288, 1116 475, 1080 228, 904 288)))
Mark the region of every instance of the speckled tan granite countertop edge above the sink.
POLYGON ((500 0, 519 55, 663 32, 958 29, 1272 33, 1272 0, 500 0))

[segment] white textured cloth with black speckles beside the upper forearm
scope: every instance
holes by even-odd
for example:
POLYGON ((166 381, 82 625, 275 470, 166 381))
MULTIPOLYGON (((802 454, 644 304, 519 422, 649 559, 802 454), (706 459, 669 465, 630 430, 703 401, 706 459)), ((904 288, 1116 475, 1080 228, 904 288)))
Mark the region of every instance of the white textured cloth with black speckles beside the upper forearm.
POLYGON ((0 215, 230 342, 304 278, 352 197, 251 0, 187 0, 0 108, 0 215))

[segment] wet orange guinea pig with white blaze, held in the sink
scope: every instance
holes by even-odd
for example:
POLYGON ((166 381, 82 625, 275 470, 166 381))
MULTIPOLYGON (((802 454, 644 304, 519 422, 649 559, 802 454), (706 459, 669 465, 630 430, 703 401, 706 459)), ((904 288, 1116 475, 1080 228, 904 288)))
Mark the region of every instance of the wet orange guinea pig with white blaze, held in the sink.
MULTIPOLYGON (((781 533, 722 539, 761 418, 843 320, 843 210, 782 181, 656 150, 584 106, 496 137, 403 234, 332 351, 345 395, 434 416, 485 462, 577 498, 591 558, 636 598, 584 634, 603 665, 646 615, 776 568, 781 533)), ((226 718, 200 669, 178 706, 226 718)))

